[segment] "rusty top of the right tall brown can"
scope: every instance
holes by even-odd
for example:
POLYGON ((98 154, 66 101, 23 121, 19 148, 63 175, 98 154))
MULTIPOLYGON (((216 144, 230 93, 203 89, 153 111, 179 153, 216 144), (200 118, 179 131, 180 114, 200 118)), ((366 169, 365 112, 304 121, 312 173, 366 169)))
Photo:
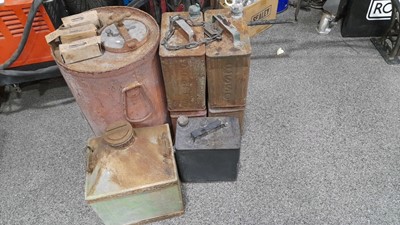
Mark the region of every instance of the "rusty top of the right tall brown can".
POLYGON ((222 15, 227 19, 226 23, 235 26, 240 33, 240 45, 235 46, 232 35, 227 30, 222 33, 221 41, 214 41, 207 45, 207 57, 224 57, 224 56, 239 56, 250 55, 251 45, 248 34, 247 24, 243 19, 233 19, 229 9, 207 10, 204 13, 204 21, 207 23, 213 22, 213 16, 222 15))

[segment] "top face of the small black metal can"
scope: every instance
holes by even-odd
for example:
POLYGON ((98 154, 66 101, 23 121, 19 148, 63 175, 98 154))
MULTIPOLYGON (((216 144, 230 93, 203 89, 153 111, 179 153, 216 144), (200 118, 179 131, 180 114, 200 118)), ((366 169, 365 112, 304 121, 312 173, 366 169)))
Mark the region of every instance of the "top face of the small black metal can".
POLYGON ((239 120, 235 117, 178 118, 175 150, 240 149, 239 120))

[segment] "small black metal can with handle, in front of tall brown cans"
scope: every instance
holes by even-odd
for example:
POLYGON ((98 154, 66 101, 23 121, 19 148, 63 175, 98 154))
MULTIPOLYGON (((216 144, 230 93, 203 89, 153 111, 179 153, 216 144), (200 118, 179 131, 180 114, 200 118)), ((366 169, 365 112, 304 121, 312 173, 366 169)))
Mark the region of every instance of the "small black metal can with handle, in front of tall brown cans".
POLYGON ((175 157, 181 181, 235 181, 240 145, 235 117, 178 118, 175 157))

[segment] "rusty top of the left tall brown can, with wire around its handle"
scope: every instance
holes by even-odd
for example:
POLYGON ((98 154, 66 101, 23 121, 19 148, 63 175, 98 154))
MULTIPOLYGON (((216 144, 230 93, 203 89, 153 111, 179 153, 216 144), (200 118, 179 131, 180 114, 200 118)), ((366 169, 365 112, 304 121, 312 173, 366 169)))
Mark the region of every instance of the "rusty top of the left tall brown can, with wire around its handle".
MULTIPOLYGON (((180 16, 185 19, 189 19, 189 13, 188 12, 166 12, 162 14, 162 20, 161 20, 161 38, 160 40, 163 40, 165 38, 165 35, 170 28, 170 20, 173 16, 180 16)), ((196 18, 193 19, 194 23, 202 23, 203 22, 203 13, 196 18)), ((177 26, 176 26, 177 27, 177 26)), ((189 26, 189 29, 191 28, 193 31, 193 39, 192 41, 200 41, 204 39, 204 29, 202 26, 189 26)), ((170 45, 185 45, 189 44, 191 41, 189 40, 188 34, 186 34, 183 30, 183 28, 177 28, 174 32, 174 34, 171 36, 169 39, 168 43, 170 45)), ((159 55, 160 57, 191 57, 191 56, 203 56, 206 53, 206 47, 204 44, 201 44, 195 48, 190 48, 190 49, 179 49, 176 51, 169 51, 167 50, 164 45, 161 44, 162 41, 160 42, 160 48, 159 48, 159 55)))

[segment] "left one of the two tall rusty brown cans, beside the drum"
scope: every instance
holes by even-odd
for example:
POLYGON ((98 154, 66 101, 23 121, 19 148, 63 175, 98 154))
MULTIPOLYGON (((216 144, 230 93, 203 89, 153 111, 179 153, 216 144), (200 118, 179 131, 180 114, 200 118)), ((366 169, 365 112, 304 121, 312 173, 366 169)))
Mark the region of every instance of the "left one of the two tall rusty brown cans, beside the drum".
POLYGON ((169 111, 206 109, 205 45, 174 50, 177 46, 203 40, 202 22, 201 12, 194 17, 189 17, 188 12, 162 15, 159 55, 169 111), (186 19, 195 26, 189 25, 186 19), (171 32, 173 35, 168 36, 171 32))

